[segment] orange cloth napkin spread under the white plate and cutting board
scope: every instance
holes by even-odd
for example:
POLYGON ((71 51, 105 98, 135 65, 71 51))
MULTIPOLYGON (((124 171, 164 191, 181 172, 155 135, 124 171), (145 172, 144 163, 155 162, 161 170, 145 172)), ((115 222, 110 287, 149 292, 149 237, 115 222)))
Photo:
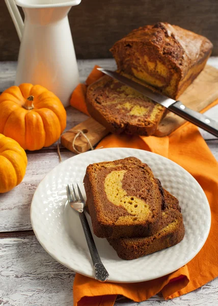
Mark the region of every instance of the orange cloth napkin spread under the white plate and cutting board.
MULTIPOLYGON (((102 76, 96 68, 97 66, 87 79, 88 85, 102 76)), ((86 88, 84 84, 78 85, 72 94, 71 105, 88 114, 85 104, 86 88)), ((209 107, 217 103, 218 100, 209 107)), ((113 306, 118 294, 139 302, 160 291, 165 299, 170 299, 193 291, 218 276, 218 163, 198 128, 186 122, 171 135, 162 138, 111 134, 98 144, 100 146, 149 150, 182 166, 204 189, 210 203, 211 228, 205 245, 192 261, 179 270, 152 281, 134 284, 99 283, 77 273, 73 284, 74 305, 113 306)))

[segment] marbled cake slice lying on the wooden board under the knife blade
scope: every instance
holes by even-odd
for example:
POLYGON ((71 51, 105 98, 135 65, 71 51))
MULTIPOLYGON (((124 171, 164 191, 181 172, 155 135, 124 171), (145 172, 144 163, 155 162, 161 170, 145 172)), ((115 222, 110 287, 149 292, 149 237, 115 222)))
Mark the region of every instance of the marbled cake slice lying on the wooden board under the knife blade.
POLYGON ((166 109, 105 75, 88 87, 87 109, 110 132, 149 136, 166 109))

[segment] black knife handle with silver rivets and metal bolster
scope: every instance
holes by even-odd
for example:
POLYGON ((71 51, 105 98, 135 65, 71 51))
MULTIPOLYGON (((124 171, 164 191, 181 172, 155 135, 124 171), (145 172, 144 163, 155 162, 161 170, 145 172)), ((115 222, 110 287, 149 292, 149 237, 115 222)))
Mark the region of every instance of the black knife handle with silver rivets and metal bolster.
POLYGON ((170 105, 168 110, 182 117, 183 119, 201 127, 201 129, 207 131, 208 133, 218 137, 218 122, 205 116, 204 114, 187 108, 180 101, 176 101, 170 105))

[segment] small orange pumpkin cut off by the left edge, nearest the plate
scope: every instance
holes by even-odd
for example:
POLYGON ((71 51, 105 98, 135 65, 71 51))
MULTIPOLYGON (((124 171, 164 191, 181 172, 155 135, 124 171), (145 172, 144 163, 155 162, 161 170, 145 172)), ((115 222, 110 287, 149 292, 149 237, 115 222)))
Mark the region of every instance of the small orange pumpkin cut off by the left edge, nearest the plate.
POLYGON ((19 143, 0 134, 0 193, 20 184, 27 162, 25 151, 19 143))

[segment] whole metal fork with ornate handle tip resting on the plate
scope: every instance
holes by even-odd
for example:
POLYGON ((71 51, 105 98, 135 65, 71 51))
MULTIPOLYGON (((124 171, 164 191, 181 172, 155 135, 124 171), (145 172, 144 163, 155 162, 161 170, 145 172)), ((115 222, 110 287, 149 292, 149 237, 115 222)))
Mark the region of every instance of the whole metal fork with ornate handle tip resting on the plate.
POLYGON ((70 203, 70 206, 78 212, 81 224, 83 225, 84 234, 91 254, 92 262, 94 265, 95 279, 97 279, 97 281, 100 282, 106 282, 107 278, 109 277, 109 274, 101 262, 94 239, 92 237, 89 223, 84 213, 85 201, 83 195, 81 194, 78 184, 77 184, 77 190, 78 190, 78 195, 76 195, 74 186, 72 193, 70 190, 70 186, 67 185, 68 201, 70 203))

